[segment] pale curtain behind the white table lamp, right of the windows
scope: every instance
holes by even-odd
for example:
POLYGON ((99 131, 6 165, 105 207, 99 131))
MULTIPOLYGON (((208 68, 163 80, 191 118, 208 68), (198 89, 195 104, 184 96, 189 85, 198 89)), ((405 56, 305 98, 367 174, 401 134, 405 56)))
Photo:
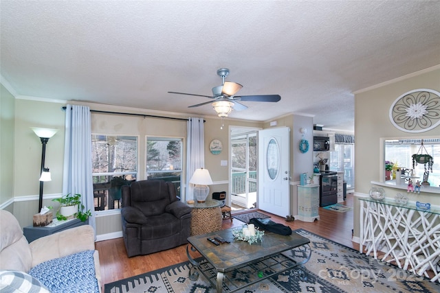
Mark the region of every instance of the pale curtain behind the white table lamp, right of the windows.
MULTIPOLYGON (((205 167, 203 118, 191 117, 187 125, 186 145, 186 200, 194 198, 189 181, 195 169, 205 167)), ((183 199, 185 200, 185 199, 183 199)))

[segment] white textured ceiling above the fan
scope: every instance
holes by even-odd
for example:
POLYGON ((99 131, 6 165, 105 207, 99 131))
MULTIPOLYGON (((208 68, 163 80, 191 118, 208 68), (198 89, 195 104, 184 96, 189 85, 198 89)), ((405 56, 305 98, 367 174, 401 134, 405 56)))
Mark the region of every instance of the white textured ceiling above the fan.
POLYGON ((17 96, 214 115, 226 80, 230 117, 313 115, 353 130, 353 91, 440 64, 440 1, 0 1, 1 78, 17 96))

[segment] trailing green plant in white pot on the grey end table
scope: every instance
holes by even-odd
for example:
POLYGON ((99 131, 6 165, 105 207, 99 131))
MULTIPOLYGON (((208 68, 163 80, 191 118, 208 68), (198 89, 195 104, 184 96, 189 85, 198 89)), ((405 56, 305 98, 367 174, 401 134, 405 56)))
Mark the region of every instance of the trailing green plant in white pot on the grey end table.
POLYGON ((60 208, 56 211, 56 218, 58 220, 67 220, 76 217, 81 221, 85 221, 91 216, 91 211, 84 211, 84 204, 81 203, 80 194, 66 194, 61 198, 54 198, 52 201, 59 202, 60 208))

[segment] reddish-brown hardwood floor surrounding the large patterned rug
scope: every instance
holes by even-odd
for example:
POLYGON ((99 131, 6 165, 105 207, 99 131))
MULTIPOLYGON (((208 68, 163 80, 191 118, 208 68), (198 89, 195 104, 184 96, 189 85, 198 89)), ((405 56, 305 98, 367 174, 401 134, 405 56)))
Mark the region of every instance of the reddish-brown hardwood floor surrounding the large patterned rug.
MULTIPOLYGON (((347 201, 343 202, 353 207, 353 194, 347 194, 347 201)), ((319 208, 320 220, 312 223, 286 222, 284 218, 272 215, 264 211, 259 211, 271 216, 271 220, 288 225, 292 230, 303 228, 307 231, 331 239, 334 242, 345 246, 359 249, 359 244, 351 242, 353 229, 353 210, 345 213, 329 211, 319 208)), ((223 228, 241 226, 243 222, 239 220, 224 220, 223 228)), ((122 238, 96 242, 96 249, 99 251, 102 286, 106 283, 118 281, 120 279, 142 274, 151 270, 157 270, 175 263, 187 261, 186 245, 179 246, 170 250, 152 253, 151 255, 140 255, 137 257, 127 257, 122 238)))

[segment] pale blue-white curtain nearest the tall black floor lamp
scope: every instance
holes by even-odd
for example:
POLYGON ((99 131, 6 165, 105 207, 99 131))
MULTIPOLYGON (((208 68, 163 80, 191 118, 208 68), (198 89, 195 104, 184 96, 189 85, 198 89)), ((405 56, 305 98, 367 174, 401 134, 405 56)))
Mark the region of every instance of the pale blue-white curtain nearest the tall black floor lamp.
POLYGON ((63 194, 80 194, 89 225, 96 231, 94 186, 91 178, 91 117, 87 106, 66 106, 63 194))

